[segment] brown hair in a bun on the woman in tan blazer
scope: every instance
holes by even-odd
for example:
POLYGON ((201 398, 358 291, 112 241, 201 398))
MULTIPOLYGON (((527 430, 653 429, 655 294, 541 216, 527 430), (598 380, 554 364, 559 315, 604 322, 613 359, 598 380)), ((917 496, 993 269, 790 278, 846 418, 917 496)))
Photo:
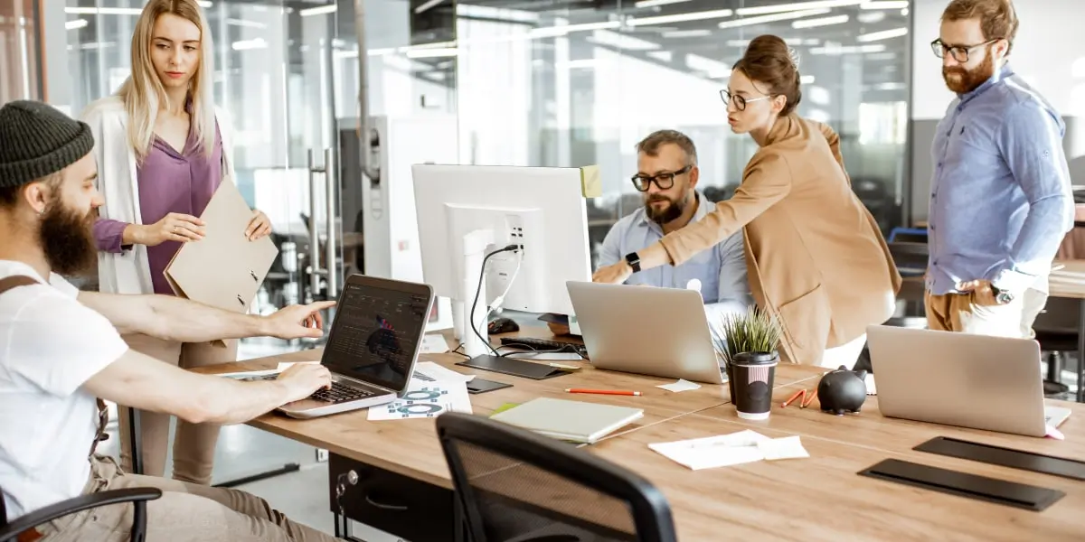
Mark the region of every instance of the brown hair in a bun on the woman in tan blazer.
POLYGON ((779 36, 757 36, 731 69, 741 69, 750 79, 768 87, 768 94, 782 95, 788 103, 780 116, 790 115, 803 100, 799 88, 799 62, 779 36))

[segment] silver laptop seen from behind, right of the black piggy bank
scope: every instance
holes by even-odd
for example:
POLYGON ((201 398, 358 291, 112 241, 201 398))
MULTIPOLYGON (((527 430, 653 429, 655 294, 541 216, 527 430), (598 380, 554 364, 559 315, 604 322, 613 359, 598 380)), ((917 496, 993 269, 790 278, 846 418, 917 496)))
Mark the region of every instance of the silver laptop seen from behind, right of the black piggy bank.
POLYGON ((1070 416, 1044 405, 1033 339, 871 325, 867 345, 884 416, 1031 437, 1070 416))

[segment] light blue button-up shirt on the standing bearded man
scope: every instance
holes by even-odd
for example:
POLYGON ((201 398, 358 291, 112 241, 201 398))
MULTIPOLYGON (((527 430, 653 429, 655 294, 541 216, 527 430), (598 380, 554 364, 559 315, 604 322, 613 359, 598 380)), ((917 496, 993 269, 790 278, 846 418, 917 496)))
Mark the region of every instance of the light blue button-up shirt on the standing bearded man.
POLYGON ((931 150, 932 294, 973 280, 1046 292, 1041 279, 1074 221, 1064 132, 1058 112, 1008 65, 949 104, 931 150))

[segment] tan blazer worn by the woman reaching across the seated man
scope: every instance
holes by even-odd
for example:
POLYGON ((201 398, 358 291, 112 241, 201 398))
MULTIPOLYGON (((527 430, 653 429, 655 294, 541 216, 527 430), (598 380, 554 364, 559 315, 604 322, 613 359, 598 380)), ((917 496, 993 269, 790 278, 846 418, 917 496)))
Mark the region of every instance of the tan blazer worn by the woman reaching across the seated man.
POLYGON ((750 289, 782 326, 781 354, 818 364, 893 315, 901 274, 852 192, 840 139, 826 125, 780 117, 735 195, 663 237, 675 266, 745 228, 750 289))

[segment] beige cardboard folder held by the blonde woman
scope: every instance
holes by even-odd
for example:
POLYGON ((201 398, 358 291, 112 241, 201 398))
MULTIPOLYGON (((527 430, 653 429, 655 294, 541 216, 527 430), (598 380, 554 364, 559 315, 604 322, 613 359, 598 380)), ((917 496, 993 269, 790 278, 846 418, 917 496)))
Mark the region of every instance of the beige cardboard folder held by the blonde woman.
MULTIPOLYGON (((279 249, 271 236, 248 241, 253 218, 241 192, 224 180, 200 217, 205 235, 181 245, 166 266, 166 280, 178 297, 233 312, 248 312, 279 249)), ((214 341, 225 346, 221 340, 214 341)))

